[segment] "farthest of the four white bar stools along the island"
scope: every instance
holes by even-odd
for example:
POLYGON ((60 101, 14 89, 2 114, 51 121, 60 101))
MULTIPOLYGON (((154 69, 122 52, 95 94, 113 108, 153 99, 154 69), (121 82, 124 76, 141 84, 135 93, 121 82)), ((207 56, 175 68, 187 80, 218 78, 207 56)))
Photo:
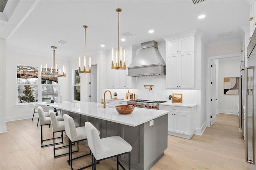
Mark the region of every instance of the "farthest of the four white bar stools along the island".
MULTIPOLYGON (((47 106, 44 106, 44 107, 47 107, 47 106)), ((54 111, 54 108, 52 107, 49 107, 48 108, 48 115, 49 115, 49 110, 52 110, 54 111)), ((40 127, 41 127, 41 147, 43 146, 50 146, 50 145, 53 145, 52 144, 46 144, 46 145, 43 145, 43 142, 46 141, 46 140, 52 140, 53 138, 48 138, 48 139, 43 139, 43 127, 44 125, 51 125, 51 119, 50 117, 45 117, 45 112, 42 108, 42 106, 39 106, 38 107, 38 120, 40 121, 40 127)), ((58 121, 63 121, 63 118, 61 116, 56 116, 57 120, 58 121)), ((61 138, 62 136, 60 137, 57 137, 57 138, 61 138)))

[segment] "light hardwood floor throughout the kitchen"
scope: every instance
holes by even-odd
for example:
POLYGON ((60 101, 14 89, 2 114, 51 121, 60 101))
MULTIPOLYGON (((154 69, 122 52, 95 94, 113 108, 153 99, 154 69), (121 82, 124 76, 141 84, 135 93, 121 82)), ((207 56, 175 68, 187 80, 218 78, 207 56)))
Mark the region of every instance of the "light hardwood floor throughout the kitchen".
MULTIPOLYGON (((7 122, 8 132, 0 134, 1 170, 69 170, 68 156, 54 158, 52 146, 40 146, 40 127, 37 118, 7 122)), ((52 128, 43 127, 44 138, 52 136, 52 128)), ((51 142, 51 141, 48 141, 51 142)), ((64 137, 65 144, 67 137, 64 137)), ((89 152, 80 144, 74 156, 89 152)), ((76 146, 73 146, 74 149, 76 146)), ((57 154, 67 152, 67 148, 57 154)), ((168 148, 163 158, 152 170, 248 170, 245 162, 244 140, 238 131, 238 116, 220 114, 212 127, 207 127, 202 136, 190 140, 168 135, 168 148)), ((73 168, 90 164, 91 157, 75 160, 73 168)), ((90 169, 90 168, 89 168, 90 169)), ((116 169, 116 160, 108 159, 97 165, 98 170, 116 169)))

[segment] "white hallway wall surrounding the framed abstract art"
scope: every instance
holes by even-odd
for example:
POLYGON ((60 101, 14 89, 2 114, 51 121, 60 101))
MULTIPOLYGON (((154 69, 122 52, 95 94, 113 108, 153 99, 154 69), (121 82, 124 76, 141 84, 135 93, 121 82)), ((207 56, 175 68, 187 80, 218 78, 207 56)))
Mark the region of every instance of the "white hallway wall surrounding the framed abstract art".
POLYGON ((237 114, 239 95, 224 95, 224 77, 240 77, 240 60, 219 61, 218 109, 219 113, 237 114))

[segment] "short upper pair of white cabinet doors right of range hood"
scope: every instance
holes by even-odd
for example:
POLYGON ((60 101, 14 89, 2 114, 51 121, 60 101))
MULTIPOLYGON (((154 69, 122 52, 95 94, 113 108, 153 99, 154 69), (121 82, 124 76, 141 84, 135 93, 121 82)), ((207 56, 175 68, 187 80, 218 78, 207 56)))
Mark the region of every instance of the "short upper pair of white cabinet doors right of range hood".
POLYGON ((166 42, 166 55, 194 51, 194 36, 166 42))

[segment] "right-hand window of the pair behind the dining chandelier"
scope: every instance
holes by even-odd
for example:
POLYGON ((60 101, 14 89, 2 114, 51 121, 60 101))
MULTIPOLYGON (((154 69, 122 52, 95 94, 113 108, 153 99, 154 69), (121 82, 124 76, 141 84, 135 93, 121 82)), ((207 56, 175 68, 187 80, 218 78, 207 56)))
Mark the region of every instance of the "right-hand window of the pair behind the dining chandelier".
POLYGON ((42 76, 42 101, 58 97, 58 77, 42 76))

